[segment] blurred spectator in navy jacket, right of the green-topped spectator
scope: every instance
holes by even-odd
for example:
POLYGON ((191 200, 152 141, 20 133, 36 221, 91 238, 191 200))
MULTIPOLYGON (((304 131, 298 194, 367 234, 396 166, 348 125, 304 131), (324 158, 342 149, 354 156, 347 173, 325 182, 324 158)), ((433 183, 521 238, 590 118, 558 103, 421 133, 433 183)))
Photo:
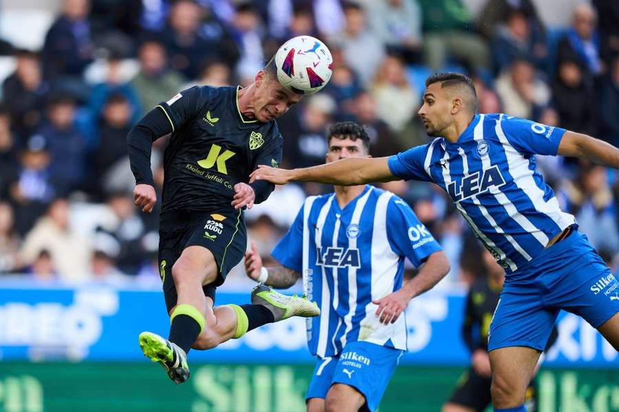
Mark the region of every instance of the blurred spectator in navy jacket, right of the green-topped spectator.
POLYGON ((520 10, 509 12, 506 23, 499 25, 492 36, 492 58, 495 73, 509 67, 514 60, 525 56, 543 69, 547 56, 545 38, 534 30, 528 16, 520 10))

